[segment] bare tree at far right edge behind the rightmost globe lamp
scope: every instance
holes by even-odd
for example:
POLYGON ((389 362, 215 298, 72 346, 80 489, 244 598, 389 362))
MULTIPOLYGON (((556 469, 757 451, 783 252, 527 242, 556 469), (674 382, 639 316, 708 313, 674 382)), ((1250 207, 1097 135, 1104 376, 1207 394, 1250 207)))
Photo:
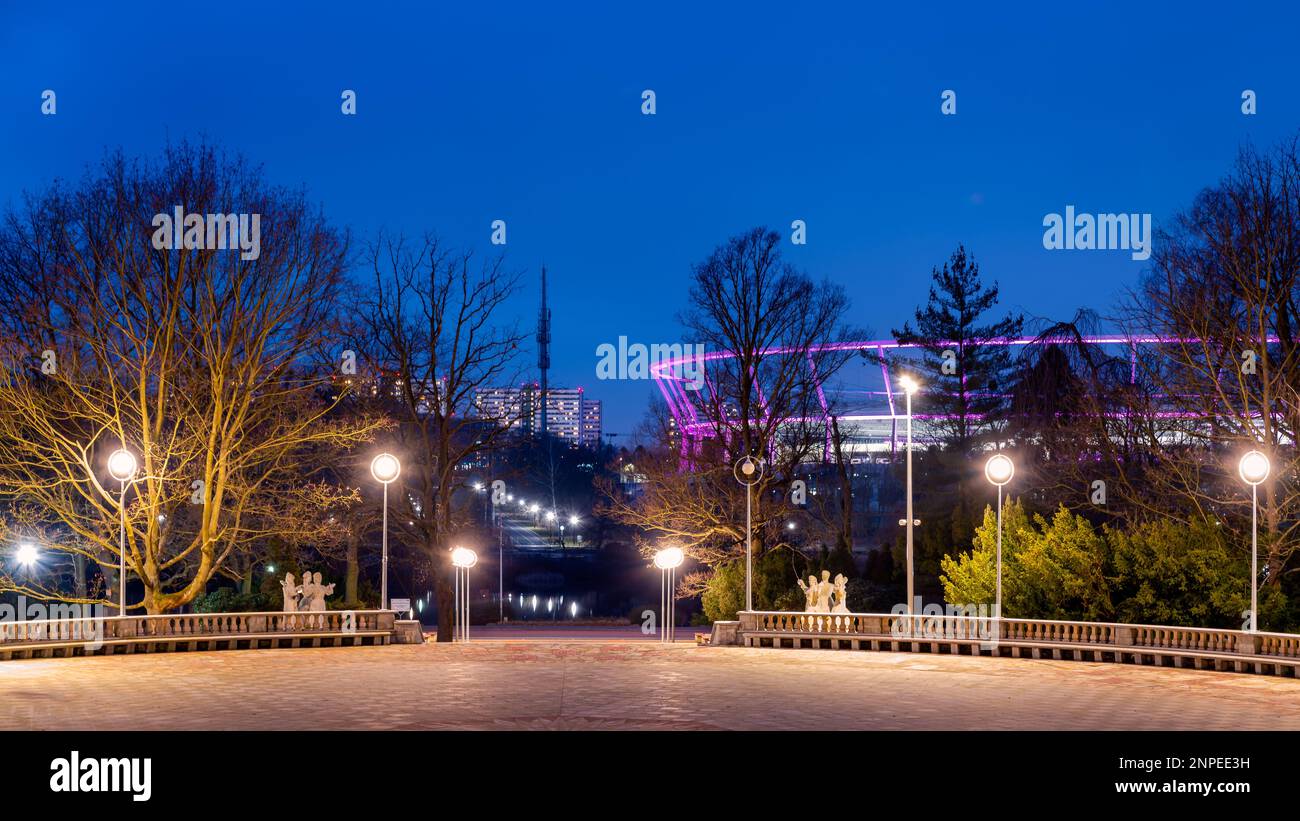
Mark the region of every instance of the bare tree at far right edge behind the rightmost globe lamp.
MULTIPOLYGON (((1126 321, 1160 336, 1139 359, 1158 401, 1123 472, 1136 505, 1182 518, 1244 522, 1244 451, 1273 460, 1260 487, 1268 583, 1296 570, 1300 483, 1300 143, 1243 148, 1231 173, 1160 231, 1126 321), (1170 413, 1173 412, 1173 413, 1170 413)), ((1248 525, 1242 530, 1247 530, 1248 525)))

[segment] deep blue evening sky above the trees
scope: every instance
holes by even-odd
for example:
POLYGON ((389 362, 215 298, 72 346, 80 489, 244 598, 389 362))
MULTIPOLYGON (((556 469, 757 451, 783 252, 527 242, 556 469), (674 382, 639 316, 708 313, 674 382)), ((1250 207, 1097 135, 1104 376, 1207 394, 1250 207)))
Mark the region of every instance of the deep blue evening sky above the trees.
MULTIPOLYGON (((805 220, 788 256, 844 283, 880 336, 959 242, 1005 307, 1105 310, 1143 264, 1044 251, 1044 214, 1158 223, 1239 143, 1300 126, 1290 4, 36 5, 0 0, 0 203, 105 147, 207 135, 359 238, 432 229, 488 251, 506 220, 511 262, 551 272, 552 383, 603 398, 619 433, 653 387, 598 383, 597 346, 681 340, 689 266, 731 234, 805 220)), ((530 281, 526 323, 536 297, 530 281)))

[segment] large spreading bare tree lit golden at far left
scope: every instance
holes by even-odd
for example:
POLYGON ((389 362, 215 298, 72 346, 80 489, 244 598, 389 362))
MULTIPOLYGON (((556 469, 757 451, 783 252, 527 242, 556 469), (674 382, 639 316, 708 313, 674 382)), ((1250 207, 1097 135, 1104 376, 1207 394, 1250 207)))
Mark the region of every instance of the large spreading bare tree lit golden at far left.
MULTIPOLYGON (((238 551, 315 527, 294 516, 317 492, 298 456, 377 427, 326 418, 328 378, 308 362, 346 252, 302 194, 208 145, 170 147, 159 164, 113 155, 79 184, 29 197, 0 234, 0 299, 13 307, 0 339, 0 498, 42 512, 44 549, 116 578, 120 487, 105 459, 133 451, 126 566, 143 598, 126 604, 150 613, 192 601, 238 551), (177 248, 159 242, 157 222, 174 208, 198 221, 177 248), (228 248, 214 247, 226 244, 218 226, 228 248)), ((0 538, 31 525, 6 516, 0 538)))

